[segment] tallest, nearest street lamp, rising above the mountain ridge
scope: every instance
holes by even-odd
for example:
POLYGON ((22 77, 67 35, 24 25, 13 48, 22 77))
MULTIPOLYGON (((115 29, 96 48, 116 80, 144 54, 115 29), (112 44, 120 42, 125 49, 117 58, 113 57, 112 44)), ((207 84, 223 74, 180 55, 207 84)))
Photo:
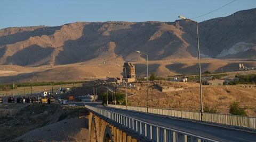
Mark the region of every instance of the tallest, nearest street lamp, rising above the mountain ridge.
POLYGON ((202 95, 202 77, 201 77, 201 63, 200 63, 200 50, 199 50, 199 36, 198 36, 198 23, 196 21, 187 19, 184 16, 179 15, 179 18, 185 21, 191 21, 196 23, 197 31, 197 46, 198 46, 198 64, 199 64, 199 79, 200 79, 200 100, 201 100, 201 121, 203 120, 203 95, 202 95))

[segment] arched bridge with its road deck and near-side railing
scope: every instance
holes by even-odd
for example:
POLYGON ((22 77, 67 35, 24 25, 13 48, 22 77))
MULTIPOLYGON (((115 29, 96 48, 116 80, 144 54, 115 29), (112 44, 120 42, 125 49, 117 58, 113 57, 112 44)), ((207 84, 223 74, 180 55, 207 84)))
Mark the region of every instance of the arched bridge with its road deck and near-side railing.
POLYGON ((251 128, 116 109, 100 103, 86 103, 85 107, 90 110, 91 141, 256 140, 256 130, 251 128))

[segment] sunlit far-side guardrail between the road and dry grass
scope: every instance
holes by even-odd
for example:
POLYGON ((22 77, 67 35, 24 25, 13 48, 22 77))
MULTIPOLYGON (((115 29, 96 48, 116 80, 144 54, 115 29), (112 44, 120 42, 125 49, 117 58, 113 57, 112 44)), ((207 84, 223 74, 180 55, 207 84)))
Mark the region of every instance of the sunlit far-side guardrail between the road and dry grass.
MULTIPOLYGON (((115 105, 113 104, 108 104, 108 106, 111 108, 126 109, 126 106, 124 105, 116 105, 115 107, 115 105)), ((138 106, 127 106, 127 110, 147 112, 147 108, 138 107, 138 106)), ((179 110, 168 110, 168 109, 157 109, 157 108, 149 108, 148 112, 152 114, 160 114, 163 116, 201 120, 201 112, 179 111, 179 110)), ((236 116, 236 115, 217 114, 217 113, 203 113, 202 119, 203 119, 202 121, 205 121, 205 122, 212 122, 212 123, 219 123, 223 125, 256 129, 256 117, 236 116)))

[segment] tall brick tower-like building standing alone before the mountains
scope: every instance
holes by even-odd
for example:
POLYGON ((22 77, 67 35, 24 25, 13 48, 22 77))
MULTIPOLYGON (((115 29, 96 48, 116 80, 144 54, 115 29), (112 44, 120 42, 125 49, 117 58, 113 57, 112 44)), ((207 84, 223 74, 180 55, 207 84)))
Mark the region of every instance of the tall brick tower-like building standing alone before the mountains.
POLYGON ((136 67, 131 62, 124 63, 123 68, 123 82, 136 81, 136 67))

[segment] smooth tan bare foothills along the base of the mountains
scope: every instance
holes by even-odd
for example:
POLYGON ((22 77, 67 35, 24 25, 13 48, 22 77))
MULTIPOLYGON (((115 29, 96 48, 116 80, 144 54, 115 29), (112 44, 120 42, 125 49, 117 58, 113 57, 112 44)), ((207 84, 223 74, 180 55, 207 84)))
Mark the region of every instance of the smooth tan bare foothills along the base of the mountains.
MULTIPOLYGON (((98 79, 106 77, 122 77, 123 61, 98 64, 96 63, 76 63, 56 66, 21 67, 0 65, 0 83, 29 82, 29 81, 84 81, 88 79, 98 79), (117 66, 120 65, 121 67, 117 66)), ((134 61, 137 65, 137 76, 146 76, 146 62, 134 61)), ((247 67, 256 67, 253 60, 219 60, 202 59, 202 72, 233 72, 236 74, 255 74, 256 70, 246 72, 234 72, 238 70, 238 64, 244 63, 247 67)), ((171 59, 171 60, 150 60, 149 73, 156 73, 160 77, 179 74, 197 74, 197 59, 171 59)), ((231 74, 231 73, 230 73, 231 74)))

